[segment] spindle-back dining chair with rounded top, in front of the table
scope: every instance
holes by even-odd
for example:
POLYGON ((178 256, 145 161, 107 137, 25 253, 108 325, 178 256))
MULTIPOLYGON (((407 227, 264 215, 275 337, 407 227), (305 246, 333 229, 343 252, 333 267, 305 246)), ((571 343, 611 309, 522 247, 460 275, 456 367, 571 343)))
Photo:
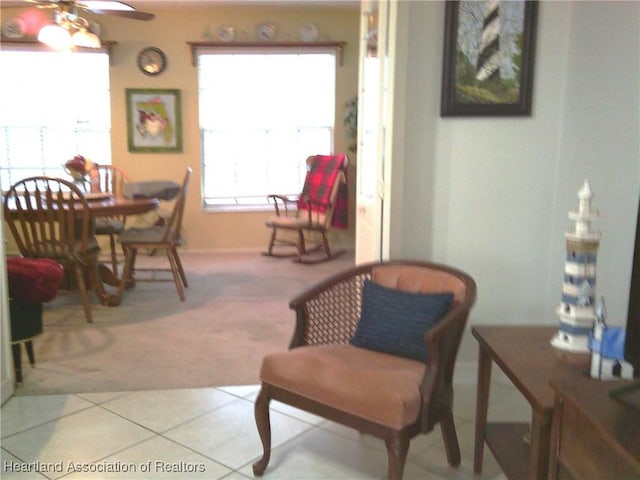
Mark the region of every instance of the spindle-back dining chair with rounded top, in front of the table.
POLYGON ((74 274, 85 317, 92 323, 88 286, 97 281, 100 247, 84 194, 61 178, 25 178, 5 194, 4 217, 23 257, 49 258, 74 274))

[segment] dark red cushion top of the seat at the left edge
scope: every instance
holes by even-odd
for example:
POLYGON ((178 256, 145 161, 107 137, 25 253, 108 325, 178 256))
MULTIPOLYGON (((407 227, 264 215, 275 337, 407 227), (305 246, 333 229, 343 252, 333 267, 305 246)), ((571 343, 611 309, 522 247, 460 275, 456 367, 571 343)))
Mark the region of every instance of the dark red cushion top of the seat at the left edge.
POLYGON ((50 302, 62 285, 64 268, 48 258, 7 258, 9 297, 24 302, 50 302))

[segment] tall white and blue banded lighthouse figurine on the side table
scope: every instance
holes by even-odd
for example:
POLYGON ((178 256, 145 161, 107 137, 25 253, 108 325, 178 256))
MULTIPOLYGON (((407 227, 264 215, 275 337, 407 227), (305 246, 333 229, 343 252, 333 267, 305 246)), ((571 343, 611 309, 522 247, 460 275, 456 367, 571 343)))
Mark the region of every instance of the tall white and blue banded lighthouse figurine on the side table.
POLYGON ((578 191, 577 212, 569 212, 575 231, 566 233, 567 257, 564 265, 562 303, 556 310, 560 330, 551 345, 571 352, 589 351, 589 332, 593 329, 596 293, 596 259, 600 232, 591 230, 598 211, 591 208, 593 192, 585 180, 578 191))

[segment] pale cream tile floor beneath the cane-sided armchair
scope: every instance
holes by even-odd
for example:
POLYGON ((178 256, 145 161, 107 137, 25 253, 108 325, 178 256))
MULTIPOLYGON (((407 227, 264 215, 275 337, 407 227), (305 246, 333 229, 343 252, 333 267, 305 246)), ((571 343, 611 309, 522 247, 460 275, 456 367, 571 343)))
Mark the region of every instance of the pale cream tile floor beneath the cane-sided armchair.
MULTIPOLYGON (((0 477, 253 478, 251 465, 262 452, 253 418, 257 392, 254 385, 15 396, 0 410, 0 477), (27 468, 38 471, 18 471, 27 468)), ((490 405, 489 419, 530 417, 524 399, 503 383, 492 387, 490 405)), ((474 410, 475 386, 456 385, 458 469, 447 465, 436 428, 411 442, 404 478, 503 479, 486 448, 482 475, 472 473, 474 410)), ((386 477, 381 440, 277 402, 271 412, 273 448, 265 479, 386 477)))

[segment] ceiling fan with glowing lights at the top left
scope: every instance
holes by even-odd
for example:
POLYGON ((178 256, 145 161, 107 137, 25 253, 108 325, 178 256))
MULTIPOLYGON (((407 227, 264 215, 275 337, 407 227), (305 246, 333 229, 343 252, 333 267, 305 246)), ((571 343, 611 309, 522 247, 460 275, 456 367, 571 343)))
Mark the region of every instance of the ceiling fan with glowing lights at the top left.
POLYGON ((89 30, 89 21, 78 12, 112 15, 133 20, 151 20, 152 13, 140 12, 131 5, 118 0, 19 0, 10 6, 36 5, 53 10, 52 21, 38 32, 38 40, 56 50, 68 50, 74 46, 100 48, 100 39, 89 30))

